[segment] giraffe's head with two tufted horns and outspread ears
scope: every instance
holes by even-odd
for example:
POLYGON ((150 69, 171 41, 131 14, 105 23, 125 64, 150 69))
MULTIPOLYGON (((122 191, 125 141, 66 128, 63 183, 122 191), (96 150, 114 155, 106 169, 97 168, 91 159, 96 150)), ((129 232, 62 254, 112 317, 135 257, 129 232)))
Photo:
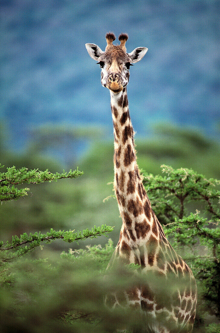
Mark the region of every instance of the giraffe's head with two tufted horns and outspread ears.
POLYGON ((128 40, 127 34, 120 34, 118 39, 120 45, 113 45, 115 35, 111 32, 105 36, 107 46, 105 52, 95 44, 85 44, 90 57, 101 67, 101 84, 108 88, 114 95, 119 94, 129 81, 129 68, 133 63, 140 61, 148 49, 138 47, 131 53, 127 53, 125 43, 128 40))

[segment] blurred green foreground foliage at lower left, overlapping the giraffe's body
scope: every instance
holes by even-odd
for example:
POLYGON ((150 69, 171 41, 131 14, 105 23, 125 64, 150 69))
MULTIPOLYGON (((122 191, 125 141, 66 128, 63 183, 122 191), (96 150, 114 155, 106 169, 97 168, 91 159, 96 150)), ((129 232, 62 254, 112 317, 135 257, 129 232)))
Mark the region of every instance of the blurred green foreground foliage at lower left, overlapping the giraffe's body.
POLYGON ((104 248, 69 250, 62 253, 61 258, 57 255, 44 260, 20 257, 4 264, 8 280, 0 290, 0 331, 19 328, 36 333, 106 333, 135 325, 140 328, 138 332, 146 333, 143 312, 127 307, 110 309, 104 306, 103 298, 115 290, 123 296, 124 290, 146 281, 151 281, 159 293, 163 291, 164 297, 168 297, 164 284, 152 272, 135 274, 137 265, 119 264, 106 274, 105 268, 113 251, 109 240, 104 248), (145 329, 142 330, 138 325, 143 322, 145 329))

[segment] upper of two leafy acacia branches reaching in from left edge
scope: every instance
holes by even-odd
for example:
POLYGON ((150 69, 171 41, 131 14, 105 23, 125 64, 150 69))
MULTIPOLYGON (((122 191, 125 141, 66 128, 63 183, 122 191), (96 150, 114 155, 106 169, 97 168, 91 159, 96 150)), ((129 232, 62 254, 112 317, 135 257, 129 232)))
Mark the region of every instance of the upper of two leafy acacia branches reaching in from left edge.
MULTIPOLYGON (((0 164, 0 167, 1 166, 0 164)), ((18 199, 21 196, 28 195, 29 188, 18 189, 14 185, 23 183, 39 184, 45 181, 57 181, 61 178, 77 178, 83 174, 78 168, 75 171, 71 169, 69 172, 63 170, 62 173, 52 173, 48 171, 40 171, 38 169, 29 170, 26 167, 16 169, 15 166, 8 167, 7 172, 0 173, 0 201, 18 199)))

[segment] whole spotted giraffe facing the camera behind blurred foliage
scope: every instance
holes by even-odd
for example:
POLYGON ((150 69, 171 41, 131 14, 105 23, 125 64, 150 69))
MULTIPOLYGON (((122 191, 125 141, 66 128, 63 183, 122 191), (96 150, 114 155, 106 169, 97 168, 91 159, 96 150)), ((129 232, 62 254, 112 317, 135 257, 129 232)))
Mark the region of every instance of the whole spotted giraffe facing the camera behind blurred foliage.
MULTIPOLYGON (((168 242, 152 210, 137 165, 134 131, 128 109, 129 68, 140 61, 148 49, 138 47, 127 53, 127 34, 119 35, 120 45, 113 44, 116 39, 113 33, 107 33, 105 37, 105 51, 95 44, 87 43, 85 46, 91 58, 98 61, 101 68, 101 84, 110 90, 111 95, 114 190, 122 217, 122 228, 107 269, 113 262, 122 260, 124 263, 140 264, 142 273, 158 273, 164 277, 164 281, 168 281, 169 273, 172 273, 177 281, 184 278, 184 288, 177 288, 170 295, 170 299, 165 301, 160 299, 148 284, 138 286, 125 294, 130 306, 152 315, 155 324, 151 332, 189 333, 192 332, 197 302, 195 278, 191 269, 168 242), (165 321, 161 324, 157 318, 161 318, 162 314, 165 321)), ((113 295, 110 303, 112 307, 120 306, 117 294, 113 295)))

